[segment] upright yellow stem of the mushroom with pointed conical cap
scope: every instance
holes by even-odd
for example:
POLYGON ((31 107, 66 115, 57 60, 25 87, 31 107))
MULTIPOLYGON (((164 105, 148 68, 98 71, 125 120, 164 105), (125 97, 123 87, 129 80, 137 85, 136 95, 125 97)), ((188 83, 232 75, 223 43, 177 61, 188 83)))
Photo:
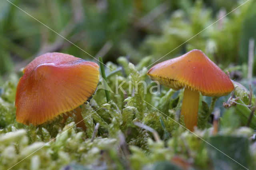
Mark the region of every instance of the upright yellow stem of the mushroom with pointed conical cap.
POLYGON ((199 96, 200 93, 198 91, 193 91, 185 87, 181 115, 184 115, 186 128, 192 132, 197 125, 199 96))

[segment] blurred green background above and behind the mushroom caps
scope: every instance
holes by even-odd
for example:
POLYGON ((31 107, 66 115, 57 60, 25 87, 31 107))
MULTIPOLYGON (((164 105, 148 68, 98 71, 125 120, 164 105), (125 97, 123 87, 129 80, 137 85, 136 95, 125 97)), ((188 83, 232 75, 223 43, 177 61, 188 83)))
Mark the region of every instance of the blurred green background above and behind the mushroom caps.
POLYGON ((232 79, 242 79, 247 75, 249 40, 256 39, 255 0, 10 2, 0 1, 0 85, 34 57, 53 51, 91 61, 96 60, 90 55, 102 56, 104 62, 114 63, 119 56, 126 56, 138 63, 148 55, 156 61, 173 50, 163 58, 166 60, 201 49, 222 69, 236 71, 232 79))

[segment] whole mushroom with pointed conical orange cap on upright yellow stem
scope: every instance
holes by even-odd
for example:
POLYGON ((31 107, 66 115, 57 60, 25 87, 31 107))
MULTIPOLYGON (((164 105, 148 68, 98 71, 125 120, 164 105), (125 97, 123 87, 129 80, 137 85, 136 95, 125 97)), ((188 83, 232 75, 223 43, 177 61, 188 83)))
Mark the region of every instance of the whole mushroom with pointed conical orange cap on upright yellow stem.
POLYGON ((184 115, 186 127, 190 131, 197 125, 200 93, 219 97, 228 95, 234 89, 224 71, 198 49, 158 63, 147 74, 150 79, 172 89, 185 87, 181 115, 184 115))

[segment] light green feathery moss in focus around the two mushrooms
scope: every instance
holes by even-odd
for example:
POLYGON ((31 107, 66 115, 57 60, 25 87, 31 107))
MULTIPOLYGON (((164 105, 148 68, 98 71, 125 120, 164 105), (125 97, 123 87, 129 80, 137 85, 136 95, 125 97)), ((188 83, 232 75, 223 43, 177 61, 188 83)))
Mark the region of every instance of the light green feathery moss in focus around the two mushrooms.
MULTIPOLYGON (((143 62, 148 60, 149 58, 143 62)), ((119 62, 122 65, 127 64, 124 58, 119 62)), ((0 98, 0 169, 8 169, 25 158, 13 169, 60 169, 79 166, 139 170, 152 168, 159 162, 170 161, 177 156, 193 168, 214 167, 217 158, 208 156, 209 146, 202 140, 208 141, 213 136, 212 125, 208 123, 208 105, 202 101, 198 115, 200 130, 194 132, 197 135, 195 136, 184 128, 184 117, 179 116, 183 90, 175 93, 172 89, 164 89, 162 94, 148 93, 144 84, 139 83, 146 79, 146 72, 136 69, 141 69, 143 62, 138 66, 131 63, 126 65, 127 75, 118 73, 117 81, 125 81, 122 86, 124 91, 129 91, 129 81, 131 82, 134 89, 132 94, 121 91, 119 94, 110 93, 112 101, 106 103, 104 91, 99 89, 90 103, 86 102, 81 106, 85 130, 76 127, 74 114, 66 121, 59 117, 40 126, 17 123, 13 102, 15 85, 6 83, 0 98), (154 103, 152 105, 156 108, 146 105, 144 100, 154 103), (155 141, 152 132, 135 126, 134 121, 156 130, 160 140, 155 141), (92 141, 96 123, 100 127, 98 135, 92 141)), ((113 63, 108 65, 112 69, 118 68, 113 63)), ((111 89, 116 88, 115 78, 107 76, 111 89)), ((235 94, 248 96, 244 91, 235 91, 235 94)), ((246 102, 245 97, 242 100, 246 102)), ((228 109, 221 118, 218 134, 251 138, 254 133, 252 128, 241 127, 240 122, 236 109, 228 109)), ((255 160, 256 155, 251 154, 255 149, 251 149, 253 152, 244 153, 251 160, 255 160)))

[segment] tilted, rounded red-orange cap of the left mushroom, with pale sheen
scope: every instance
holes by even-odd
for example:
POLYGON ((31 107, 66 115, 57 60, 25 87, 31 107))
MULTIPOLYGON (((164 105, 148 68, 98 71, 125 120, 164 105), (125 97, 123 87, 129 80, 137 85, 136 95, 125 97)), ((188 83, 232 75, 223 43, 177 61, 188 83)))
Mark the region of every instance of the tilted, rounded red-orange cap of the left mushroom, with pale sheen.
POLYGON ((46 53, 23 70, 15 99, 16 120, 40 125, 71 111, 97 88, 98 64, 64 53, 46 53))

